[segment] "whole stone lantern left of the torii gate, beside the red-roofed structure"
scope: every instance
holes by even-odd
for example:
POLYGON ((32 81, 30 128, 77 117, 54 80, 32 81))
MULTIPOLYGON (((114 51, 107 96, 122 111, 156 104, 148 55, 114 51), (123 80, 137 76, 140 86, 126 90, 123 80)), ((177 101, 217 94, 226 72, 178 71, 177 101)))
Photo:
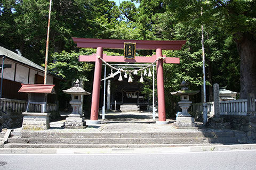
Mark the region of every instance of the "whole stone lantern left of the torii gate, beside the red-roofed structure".
POLYGON ((85 91, 80 87, 79 80, 76 80, 74 87, 63 90, 65 94, 71 95, 71 101, 69 104, 73 107, 73 111, 68 115, 65 122, 65 128, 80 129, 86 128, 86 122, 84 122, 83 111, 81 110, 81 97, 82 95, 90 95, 90 92, 85 91))

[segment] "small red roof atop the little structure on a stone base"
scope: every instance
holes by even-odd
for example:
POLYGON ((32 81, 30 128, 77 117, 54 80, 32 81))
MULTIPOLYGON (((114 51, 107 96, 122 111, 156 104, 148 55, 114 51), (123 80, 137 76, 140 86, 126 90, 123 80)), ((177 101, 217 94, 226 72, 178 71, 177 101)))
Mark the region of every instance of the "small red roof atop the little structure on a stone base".
POLYGON ((21 88, 18 92, 35 92, 51 94, 54 93, 54 84, 21 84, 21 88))

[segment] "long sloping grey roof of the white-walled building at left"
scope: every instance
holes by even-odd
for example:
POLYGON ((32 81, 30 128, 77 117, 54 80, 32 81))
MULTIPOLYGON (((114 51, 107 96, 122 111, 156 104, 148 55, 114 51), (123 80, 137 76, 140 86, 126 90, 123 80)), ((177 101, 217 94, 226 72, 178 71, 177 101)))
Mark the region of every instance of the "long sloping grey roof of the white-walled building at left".
MULTIPOLYGON (((5 55, 6 58, 8 58, 8 59, 10 59, 12 61, 28 65, 30 67, 33 67, 36 70, 44 72, 44 67, 39 66, 38 64, 28 60, 27 58, 23 57, 22 55, 19 55, 19 54, 13 52, 12 50, 6 49, 6 48, 4 48, 2 46, 0 46, 0 55, 5 55)), ((54 77, 56 77, 58 79, 61 79, 60 77, 58 77, 57 75, 51 73, 50 71, 47 71, 47 73, 53 75, 54 77)))

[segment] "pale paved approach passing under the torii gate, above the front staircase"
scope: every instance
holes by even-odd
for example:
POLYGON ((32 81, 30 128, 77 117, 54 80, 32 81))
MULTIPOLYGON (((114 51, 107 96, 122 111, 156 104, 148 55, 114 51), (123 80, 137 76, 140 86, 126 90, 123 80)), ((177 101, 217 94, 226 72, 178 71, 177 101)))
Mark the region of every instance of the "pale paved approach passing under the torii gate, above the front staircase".
MULTIPOLYGON (((61 114, 65 116, 65 114, 61 114)), ((99 116, 99 120, 101 115, 99 116)), ((153 120, 153 114, 150 112, 111 112, 105 114, 105 120, 101 120, 99 125, 89 125, 86 129, 63 129, 65 120, 51 122, 50 129, 41 130, 40 132, 195 132, 197 129, 175 129, 173 122, 175 120, 167 119, 170 124, 157 125, 153 120)), ((197 122, 199 126, 202 123, 197 122)), ((209 129, 210 130, 210 129, 209 129)), ((14 131, 21 131, 21 128, 14 129, 14 131)))

